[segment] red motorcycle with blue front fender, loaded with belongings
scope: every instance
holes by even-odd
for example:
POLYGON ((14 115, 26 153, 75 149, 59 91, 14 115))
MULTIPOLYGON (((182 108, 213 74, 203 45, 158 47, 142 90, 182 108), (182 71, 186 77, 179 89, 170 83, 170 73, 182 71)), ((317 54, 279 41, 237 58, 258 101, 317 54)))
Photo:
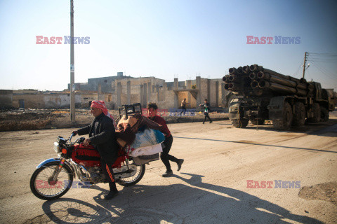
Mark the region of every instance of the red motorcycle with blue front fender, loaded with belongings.
MULTIPOLYGON (((78 185, 84 188, 96 183, 107 183, 100 167, 98 151, 93 146, 84 146, 84 137, 72 142, 73 135, 69 139, 58 137, 54 143, 54 151, 59 157, 44 160, 32 174, 30 189, 39 199, 55 200, 62 197, 74 186, 73 180, 76 177, 80 181, 78 185), (85 155, 81 153, 83 151, 90 152, 86 157, 89 160, 84 160, 85 155)), ((133 158, 128 157, 121 148, 113 171, 116 183, 133 186, 143 178, 145 164, 136 165, 133 158)))

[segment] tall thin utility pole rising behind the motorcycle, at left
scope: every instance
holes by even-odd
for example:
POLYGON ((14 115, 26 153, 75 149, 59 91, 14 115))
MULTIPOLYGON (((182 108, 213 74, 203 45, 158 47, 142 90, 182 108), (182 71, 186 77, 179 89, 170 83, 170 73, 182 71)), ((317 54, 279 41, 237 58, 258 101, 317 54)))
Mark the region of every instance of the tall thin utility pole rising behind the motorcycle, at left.
POLYGON ((75 122, 74 0, 70 0, 70 121, 75 122))

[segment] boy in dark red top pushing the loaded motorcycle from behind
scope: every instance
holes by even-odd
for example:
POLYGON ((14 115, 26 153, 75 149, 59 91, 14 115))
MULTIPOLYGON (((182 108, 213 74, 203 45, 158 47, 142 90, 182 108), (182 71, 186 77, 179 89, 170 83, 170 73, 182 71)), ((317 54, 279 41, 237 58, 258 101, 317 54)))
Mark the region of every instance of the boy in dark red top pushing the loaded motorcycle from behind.
POLYGON ((161 161, 164 163, 165 167, 166 167, 166 172, 164 174, 162 174, 161 176, 163 177, 169 177, 173 175, 172 169, 171 169, 171 165, 170 165, 170 161, 172 162, 176 162, 178 165, 178 171, 181 168, 181 165, 183 164, 184 160, 179 160, 177 158, 175 158, 173 155, 169 155, 171 146, 172 146, 172 142, 173 142, 173 137, 172 134, 169 130, 169 128, 166 125, 166 121, 164 120, 164 118, 161 118, 160 116, 157 116, 157 109, 158 106, 157 104, 148 104, 147 105, 147 110, 149 113, 149 116, 147 118, 150 118, 151 120, 153 120, 155 123, 158 123, 159 125, 163 126, 163 132, 165 135, 165 141, 164 141, 164 148, 163 148, 163 152, 160 154, 160 158, 161 161))

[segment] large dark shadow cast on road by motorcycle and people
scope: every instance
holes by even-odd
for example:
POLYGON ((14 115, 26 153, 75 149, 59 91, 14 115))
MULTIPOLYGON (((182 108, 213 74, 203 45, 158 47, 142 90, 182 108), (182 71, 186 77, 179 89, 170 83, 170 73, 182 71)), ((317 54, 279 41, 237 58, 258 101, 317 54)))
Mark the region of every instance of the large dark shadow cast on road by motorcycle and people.
MULTIPOLYGON (((45 214, 26 223, 322 223, 291 214, 277 204, 241 190, 203 183, 197 174, 171 179, 185 183, 124 188, 111 201, 107 190, 93 186, 97 204, 63 198, 43 204, 45 214)), ((88 189, 90 190, 90 189, 88 189)))

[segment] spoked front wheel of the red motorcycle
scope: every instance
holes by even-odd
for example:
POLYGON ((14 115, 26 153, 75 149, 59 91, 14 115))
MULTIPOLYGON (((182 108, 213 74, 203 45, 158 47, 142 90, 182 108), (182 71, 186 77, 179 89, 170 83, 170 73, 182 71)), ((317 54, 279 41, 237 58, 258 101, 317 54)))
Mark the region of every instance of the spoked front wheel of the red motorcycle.
POLYGON ((30 179, 30 190, 41 200, 55 200, 65 195, 72 186, 72 169, 63 165, 56 181, 53 181, 53 172, 58 169, 60 162, 49 162, 35 170, 30 179))

